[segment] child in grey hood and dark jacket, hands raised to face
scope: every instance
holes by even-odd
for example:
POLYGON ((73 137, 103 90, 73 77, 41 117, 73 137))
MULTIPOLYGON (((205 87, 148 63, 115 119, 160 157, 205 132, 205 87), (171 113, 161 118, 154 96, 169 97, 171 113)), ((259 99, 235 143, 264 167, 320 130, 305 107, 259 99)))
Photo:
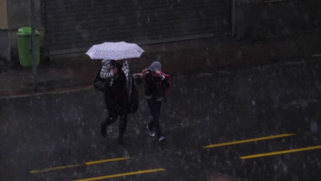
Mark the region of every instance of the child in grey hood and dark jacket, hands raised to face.
POLYGON ((147 125, 147 131, 150 136, 154 137, 155 130, 158 141, 162 143, 165 141, 165 136, 163 135, 159 123, 160 107, 162 106, 162 101, 165 97, 165 88, 170 86, 169 82, 161 73, 161 64, 157 61, 152 62, 150 67, 144 69, 142 73, 135 73, 134 78, 136 78, 137 84, 140 84, 139 82, 141 82, 141 80, 145 81, 145 98, 147 100, 147 105, 150 108, 150 113, 152 114, 152 120, 147 125))

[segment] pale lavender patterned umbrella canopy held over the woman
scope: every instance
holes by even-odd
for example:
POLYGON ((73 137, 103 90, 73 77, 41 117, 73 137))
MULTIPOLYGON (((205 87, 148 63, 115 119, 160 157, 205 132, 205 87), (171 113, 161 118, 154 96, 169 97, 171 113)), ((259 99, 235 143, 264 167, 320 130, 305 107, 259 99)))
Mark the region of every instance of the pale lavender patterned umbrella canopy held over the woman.
POLYGON ((91 59, 121 60, 125 58, 139 58, 143 49, 134 43, 106 42, 93 45, 86 54, 91 59))

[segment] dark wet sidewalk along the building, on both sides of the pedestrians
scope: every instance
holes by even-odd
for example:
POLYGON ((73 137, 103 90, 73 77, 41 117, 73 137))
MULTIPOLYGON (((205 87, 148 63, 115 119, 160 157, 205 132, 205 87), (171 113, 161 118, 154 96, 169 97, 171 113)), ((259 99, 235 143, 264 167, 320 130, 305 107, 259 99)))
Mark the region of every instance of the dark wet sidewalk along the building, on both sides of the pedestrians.
MULTIPOLYGON (((258 66, 283 60, 287 62, 301 61, 302 58, 320 60, 319 39, 318 34, 261 41, 239 41, 229 37, 204 38, 142 46, 145 50, 142 59, 154 59, 155 57, 164 59, 166 69, 175 72, 213 69, 213 67, 219 66, 234 68, 258 66), (168 49, 164 49, 164 47, 168 49), (189 62, 186 64, 184 61, 189 62)), ((32 67, 17 67, 0 73, 0 98, 64 93, 65 91, 92 88, 93 79, 100 67, 99 61, 89 59, 73 61, 67 65, 40 64, 36 92, 32 89, 32 67)), ((137 69, 137 66, 133 65, 132 69, 136 71, 141 67, 137 69)))

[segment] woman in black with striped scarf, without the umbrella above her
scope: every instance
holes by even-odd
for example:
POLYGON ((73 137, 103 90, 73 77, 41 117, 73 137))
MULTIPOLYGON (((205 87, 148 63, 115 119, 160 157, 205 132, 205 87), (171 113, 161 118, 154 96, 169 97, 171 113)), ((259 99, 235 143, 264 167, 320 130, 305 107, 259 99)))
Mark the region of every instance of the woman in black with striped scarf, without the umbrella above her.
POLYGON ((128 122, 128 87, 130 87, 128 86, 130 82, 128 82, 129 66, 127 60, 103 60, 99 76, 110 80, 104 93, 108 117, 101 124, 100 132, 103 137, 106 137, 107 125, 114 123, 120 117, 118 143, 123 144, 123 134, 125 134, 128 122))

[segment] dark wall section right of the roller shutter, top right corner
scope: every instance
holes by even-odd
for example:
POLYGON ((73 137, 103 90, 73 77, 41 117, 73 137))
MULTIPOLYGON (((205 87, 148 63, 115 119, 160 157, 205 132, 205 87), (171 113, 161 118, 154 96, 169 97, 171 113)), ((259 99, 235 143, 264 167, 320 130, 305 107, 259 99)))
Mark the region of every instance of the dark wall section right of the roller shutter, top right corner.
POLYGON ((261 39, 316 32, 320 28, 319 0, 235 0, 235 35, 261 39))

